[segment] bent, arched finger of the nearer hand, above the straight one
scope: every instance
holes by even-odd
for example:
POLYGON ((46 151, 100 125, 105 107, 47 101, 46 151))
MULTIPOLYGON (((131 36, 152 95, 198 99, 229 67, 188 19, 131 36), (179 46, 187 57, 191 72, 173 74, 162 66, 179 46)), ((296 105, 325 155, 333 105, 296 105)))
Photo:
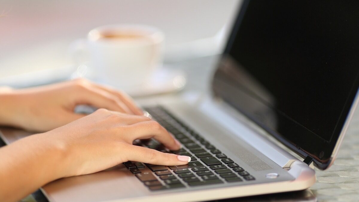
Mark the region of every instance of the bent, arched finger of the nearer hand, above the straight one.
POLYGON ((170 150, 179 150, 181 144, 156 121, 143 121, 127 127, 127 140, 155 138, 170 150))

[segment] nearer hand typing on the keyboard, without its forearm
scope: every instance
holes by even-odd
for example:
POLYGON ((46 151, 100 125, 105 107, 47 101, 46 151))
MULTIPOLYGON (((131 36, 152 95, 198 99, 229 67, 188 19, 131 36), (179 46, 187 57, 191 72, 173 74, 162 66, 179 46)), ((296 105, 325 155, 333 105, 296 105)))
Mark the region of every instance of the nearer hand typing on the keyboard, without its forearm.
POLYGON ((95 173, 126 161, 183 165, 190 160, 187 156, 132 145, 136 139, 154 138, 170 150, 181 147, 158 122, 106 109, 40 134, 39 138, 64 151, 58 177, 95 173))

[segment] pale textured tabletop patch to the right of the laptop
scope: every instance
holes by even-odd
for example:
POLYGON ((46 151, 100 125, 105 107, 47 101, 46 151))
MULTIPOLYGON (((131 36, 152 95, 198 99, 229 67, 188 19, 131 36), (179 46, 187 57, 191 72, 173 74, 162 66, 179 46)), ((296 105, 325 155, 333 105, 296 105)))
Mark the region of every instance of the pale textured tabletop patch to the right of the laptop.
POLYGON ((311 187, 318 201, 359 201, 359 111, 344 137, 339 155, 328 170, 316 169, 311 187))

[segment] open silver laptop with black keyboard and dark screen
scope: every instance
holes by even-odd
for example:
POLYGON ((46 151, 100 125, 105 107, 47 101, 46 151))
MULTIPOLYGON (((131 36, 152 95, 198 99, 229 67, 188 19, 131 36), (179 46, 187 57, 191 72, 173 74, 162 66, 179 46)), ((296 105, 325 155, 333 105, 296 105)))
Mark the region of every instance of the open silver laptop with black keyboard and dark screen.
MULTIPOLYGON (((311 187, 313 166, 333 164, 358 104, 358 10, 357 1, 244 0, 208 95, 141 102, 183 147, 134 144, 191 162, 129 161, 43 193, 53 202, 206 201, 311 187)), ((1 134, 6 143, 27 135, 1 134)))

